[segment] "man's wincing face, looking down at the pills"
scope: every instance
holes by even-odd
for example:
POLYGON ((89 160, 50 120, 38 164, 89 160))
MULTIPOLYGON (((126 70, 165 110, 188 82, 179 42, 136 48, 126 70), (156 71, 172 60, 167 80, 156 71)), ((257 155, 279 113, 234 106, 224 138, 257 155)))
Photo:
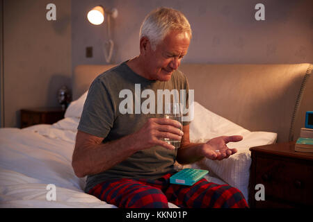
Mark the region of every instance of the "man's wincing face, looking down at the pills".
POLYGON ((188 33, 172 31, 161 41, 155 51, 150 42, 145 50, 145 74, 153 80, 168 81, 188 51, 188 33))

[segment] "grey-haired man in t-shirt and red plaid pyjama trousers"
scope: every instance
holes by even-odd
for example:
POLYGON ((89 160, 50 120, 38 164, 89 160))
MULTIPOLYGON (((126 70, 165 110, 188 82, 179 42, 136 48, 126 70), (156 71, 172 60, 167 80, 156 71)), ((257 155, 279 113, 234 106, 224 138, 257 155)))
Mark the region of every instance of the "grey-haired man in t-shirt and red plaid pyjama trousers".
POLYGON ((169 182, 176 160, 181 164, 204 157, 223 160, 236 153, 226 144, 241 136, 191 144, 188 121, 159 118, 156 112, 120 112, 122 90, 135 94, 134 103, 143 99, 136 98, 138 84, 156 94, 158 89, 188 92, 186 77, 177 68, 191 35, 182 12, 153 10, 141 26, 139 56, 104 72, 90 85, 72 158, 76 175, 88 176, 86 193, 118 207, 166 208, 168 202, 179 207, 248 207, 241 191, 228 185, 204 178, 190 187, 169 182), (162 138, 182 143, 176 149, 162 138))

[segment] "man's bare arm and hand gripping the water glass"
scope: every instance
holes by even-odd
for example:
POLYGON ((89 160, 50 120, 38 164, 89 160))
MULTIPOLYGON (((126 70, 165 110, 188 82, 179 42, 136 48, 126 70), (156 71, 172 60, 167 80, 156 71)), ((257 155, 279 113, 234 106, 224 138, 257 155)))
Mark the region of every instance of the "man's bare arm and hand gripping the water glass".
POLYGON ((136 151, 152 146, 175 149, 159 138, 182 139, 180 127, 180 123, 172 119, 151 118, 136 133, 104 144, 102 143, 104 138, 79 130, 72 156, 72 167, 75 174, 81 178, 110 169, 136 151))

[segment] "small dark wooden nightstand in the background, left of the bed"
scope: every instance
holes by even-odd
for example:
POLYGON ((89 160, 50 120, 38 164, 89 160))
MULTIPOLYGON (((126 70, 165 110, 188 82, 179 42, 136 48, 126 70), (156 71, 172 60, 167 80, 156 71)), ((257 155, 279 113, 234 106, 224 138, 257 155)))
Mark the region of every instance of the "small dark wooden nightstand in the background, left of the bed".
POLYGON ((64 118, 62 108, 33 108, 21 110, 21 128, 35 124, 52 124, 64 118))

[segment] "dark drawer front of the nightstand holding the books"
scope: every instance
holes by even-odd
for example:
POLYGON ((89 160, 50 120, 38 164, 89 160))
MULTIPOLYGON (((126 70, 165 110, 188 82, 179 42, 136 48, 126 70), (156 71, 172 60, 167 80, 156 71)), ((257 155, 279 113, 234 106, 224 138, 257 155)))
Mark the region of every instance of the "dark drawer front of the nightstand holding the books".
POLYGON ((255 179, 264 185, 265 199, 313 205, 312 162, 259 156, 255 179))

